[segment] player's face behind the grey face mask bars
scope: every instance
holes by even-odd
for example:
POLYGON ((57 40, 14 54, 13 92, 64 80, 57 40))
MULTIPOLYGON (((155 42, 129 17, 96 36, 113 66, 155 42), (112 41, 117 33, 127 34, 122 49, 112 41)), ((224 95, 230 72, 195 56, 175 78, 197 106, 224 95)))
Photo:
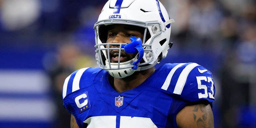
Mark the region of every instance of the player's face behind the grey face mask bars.
MULTIPOLYGON (((107 43, 130 43, 130 37, 135 36, 136 38, 140 37, 143 39, 143 34, 128 25, 116 24, 112 25, 108 30, 108 38, 107 43)), ((119 46, 110 45, 110 48, 119 48, 119 46)), ((133 59, 136 56, 135 54, 128 54, 121 51, 120 62, 126 62, 133 59)), ((118 62, 119 50, 110 50, 110 62, 117 63, 118 62)))

